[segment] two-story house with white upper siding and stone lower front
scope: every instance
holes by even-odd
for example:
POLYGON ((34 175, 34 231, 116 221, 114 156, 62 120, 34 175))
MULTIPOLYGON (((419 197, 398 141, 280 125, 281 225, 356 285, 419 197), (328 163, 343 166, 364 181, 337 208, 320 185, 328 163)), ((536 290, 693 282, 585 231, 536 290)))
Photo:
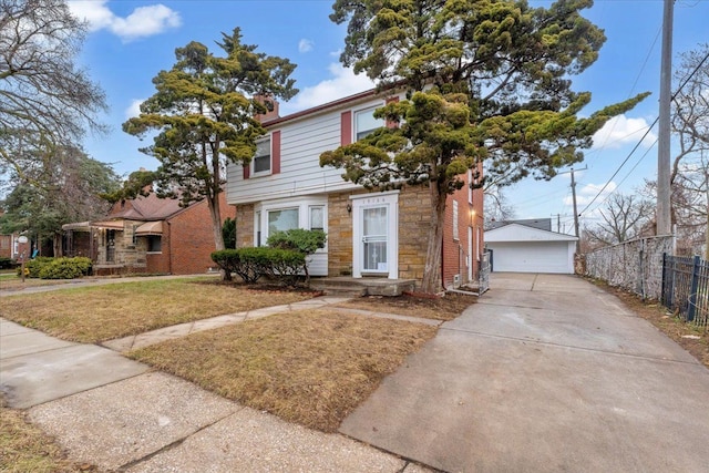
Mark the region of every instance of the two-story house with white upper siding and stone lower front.
MULTIPOLYGON (((251 163, 227 167, 226 198, 237 208, 237 246, 265 245, 270 232, 321 228, 327 247, 312 256, 311 276, 421 281, 431 206, 428 188, 367 192, 320 167, 320 154, 384 125, 372 116, 393 95, 368 91, 288 116, 278 104, 261 117, 268 130, 251 163)), ((470 183, 472 173, 463 175, 470 183)), ((483 253, 483 193, 464 186, 446 200, 442 282, 477 279, 483 253)))

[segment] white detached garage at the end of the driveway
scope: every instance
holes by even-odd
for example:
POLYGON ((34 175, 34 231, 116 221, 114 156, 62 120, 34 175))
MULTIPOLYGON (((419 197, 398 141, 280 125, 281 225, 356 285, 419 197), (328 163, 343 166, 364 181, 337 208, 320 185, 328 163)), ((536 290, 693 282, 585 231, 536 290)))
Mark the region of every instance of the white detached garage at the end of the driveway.
POLYGON ((576 237, 511 223, 485 232, 494 273, 574 274, 576 237))

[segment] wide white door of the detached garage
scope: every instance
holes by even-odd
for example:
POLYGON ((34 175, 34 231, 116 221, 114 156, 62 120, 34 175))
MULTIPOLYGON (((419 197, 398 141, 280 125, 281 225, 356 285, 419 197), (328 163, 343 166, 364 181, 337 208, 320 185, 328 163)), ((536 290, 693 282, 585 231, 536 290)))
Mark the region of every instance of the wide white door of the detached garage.
POLYGON ((487 243, 495 273, 561 273, 569 269, 567 241, 487 243))

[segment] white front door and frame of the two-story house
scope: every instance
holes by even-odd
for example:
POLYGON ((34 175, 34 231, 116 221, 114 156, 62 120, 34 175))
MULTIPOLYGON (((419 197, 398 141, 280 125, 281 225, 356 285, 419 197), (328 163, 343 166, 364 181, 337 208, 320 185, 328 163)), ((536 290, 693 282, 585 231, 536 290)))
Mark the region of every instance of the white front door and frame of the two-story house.
POLYGON ((352 197, 352 276, 399 277, 399 193, 352 197))

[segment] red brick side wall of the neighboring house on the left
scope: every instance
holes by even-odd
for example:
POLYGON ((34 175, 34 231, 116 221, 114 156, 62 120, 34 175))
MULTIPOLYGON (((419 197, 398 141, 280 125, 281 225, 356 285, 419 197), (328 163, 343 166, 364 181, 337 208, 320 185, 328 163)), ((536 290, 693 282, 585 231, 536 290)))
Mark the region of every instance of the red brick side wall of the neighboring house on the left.
MULTIPOLYGON (((226 204, 225 193, 219 194, 219 206, 223 220, 236 217, 235 207, 226 204)), ((163 225, 162 259, 158 260, 161 255, 148 254, 148 268, 151 264, 157 268, 167 264, 169 268, 165 273, 173 275, 206 273, 216 266, 210 257, 215 248, 209 207, 203 200, 163 225)))

